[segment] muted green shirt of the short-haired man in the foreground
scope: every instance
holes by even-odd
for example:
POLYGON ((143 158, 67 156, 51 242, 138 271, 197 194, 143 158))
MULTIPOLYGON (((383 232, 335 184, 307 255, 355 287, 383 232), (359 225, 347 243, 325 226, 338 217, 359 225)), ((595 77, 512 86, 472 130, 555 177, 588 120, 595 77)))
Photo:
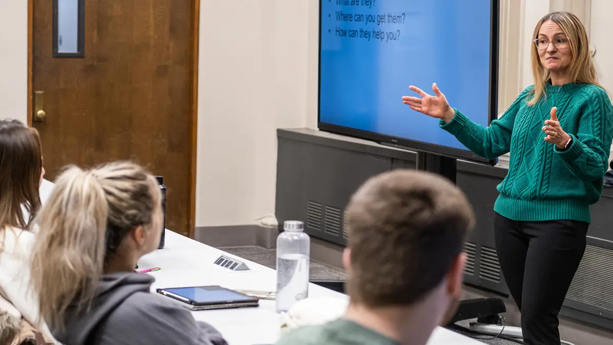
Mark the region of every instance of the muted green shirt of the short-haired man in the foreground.
POLYGON ((277 345, 398 345, 376 331, 355 322, 338 319, 319 326, 305 326, 289 331, 277 345))

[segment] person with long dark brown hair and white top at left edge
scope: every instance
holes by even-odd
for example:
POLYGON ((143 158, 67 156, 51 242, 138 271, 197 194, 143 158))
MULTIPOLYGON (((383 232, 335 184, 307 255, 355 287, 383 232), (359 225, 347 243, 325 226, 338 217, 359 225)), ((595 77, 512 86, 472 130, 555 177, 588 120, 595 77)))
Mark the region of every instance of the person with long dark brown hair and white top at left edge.
POLYGON ((35 240, 30 230, 40 207, 43 175, 38 132, 18 120, 0 120, 0 305, 9 305, 2 311, 10 309, 10 316, 23 317, 52 340, 47 325, 39 322, 38 301, 30 289, 29 260, 35 240))

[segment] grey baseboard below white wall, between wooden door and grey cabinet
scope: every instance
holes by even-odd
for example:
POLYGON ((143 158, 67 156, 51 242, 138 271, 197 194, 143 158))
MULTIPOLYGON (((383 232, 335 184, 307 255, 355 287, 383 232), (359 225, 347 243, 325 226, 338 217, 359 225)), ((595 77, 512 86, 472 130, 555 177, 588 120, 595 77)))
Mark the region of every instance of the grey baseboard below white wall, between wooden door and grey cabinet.
POLYGON ((260 225, 228 225, 224 227, 196 227, 194 239, 215 248, 258 246, 275 249, 278 234, 276 228, 261 227, 260 225))

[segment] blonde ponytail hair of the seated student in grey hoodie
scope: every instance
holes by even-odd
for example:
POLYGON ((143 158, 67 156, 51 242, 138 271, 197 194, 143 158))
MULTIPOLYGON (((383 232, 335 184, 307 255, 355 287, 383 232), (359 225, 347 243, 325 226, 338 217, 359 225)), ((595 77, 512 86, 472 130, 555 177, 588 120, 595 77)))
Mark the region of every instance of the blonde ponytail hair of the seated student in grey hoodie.
POLYGON ((40 233, 31 271, 40 317, 62 329, 69 307, 88 309, 107 260, 134 228, 150 229, 160 204, 156 180, 133 163, 66 169, 34 220, 40 233))

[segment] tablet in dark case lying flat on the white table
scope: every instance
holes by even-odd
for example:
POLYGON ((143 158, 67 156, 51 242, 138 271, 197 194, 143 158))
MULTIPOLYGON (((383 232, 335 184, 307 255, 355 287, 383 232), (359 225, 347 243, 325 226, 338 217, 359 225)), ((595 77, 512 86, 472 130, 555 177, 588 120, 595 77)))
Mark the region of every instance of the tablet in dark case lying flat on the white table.
POLYGON ((193 311, 257 307, 259 300, 218 285, 171 287, 156 290, 161 295, 185 303, 193 311))

